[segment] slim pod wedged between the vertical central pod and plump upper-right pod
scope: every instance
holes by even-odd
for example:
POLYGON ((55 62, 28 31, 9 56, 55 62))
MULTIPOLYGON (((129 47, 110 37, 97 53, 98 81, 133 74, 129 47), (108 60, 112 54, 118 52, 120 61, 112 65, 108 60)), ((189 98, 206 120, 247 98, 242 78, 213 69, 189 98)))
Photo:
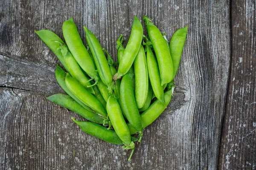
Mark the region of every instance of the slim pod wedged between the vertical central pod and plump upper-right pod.
POLYGON ((161 86, 160 73, 158 70, 157 59, 154 57, 154 54, 149 47, 149 40, 146 39, 145 51, 147 52, 147 64, 148 64, 148 77, 150 79, 152 89, 154 91, 157 99, 160 100, 163 104, 165 103, 163 95, 163 87, 161 86))

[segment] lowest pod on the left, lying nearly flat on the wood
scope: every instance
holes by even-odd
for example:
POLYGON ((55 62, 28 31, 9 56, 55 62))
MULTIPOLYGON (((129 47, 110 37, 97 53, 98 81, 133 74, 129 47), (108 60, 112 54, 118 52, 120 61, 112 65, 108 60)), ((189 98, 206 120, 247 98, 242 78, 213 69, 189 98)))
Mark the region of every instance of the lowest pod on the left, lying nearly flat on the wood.
MULTIPOLYGON (((114 130, 108 130, 108 128, 98 125, 93 122, 79 122, 73 117, 71 118, 85 133, 102 139, 105 142, 112 144, 123 144, 122 140, 117 136, 114 130)), ((137 141, 138 139, 131 137, 132 141, 137 141)))

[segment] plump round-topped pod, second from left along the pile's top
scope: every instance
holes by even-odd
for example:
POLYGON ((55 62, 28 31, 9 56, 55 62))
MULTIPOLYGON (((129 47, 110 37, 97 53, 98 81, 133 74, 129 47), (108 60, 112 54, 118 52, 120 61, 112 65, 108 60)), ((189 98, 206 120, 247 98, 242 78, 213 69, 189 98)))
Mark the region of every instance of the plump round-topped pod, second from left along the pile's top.
POLYGON ((70 20, 67 20, 63 23, 62 32, 73 57, 76 59, 81 68, 97 82, 98 77, 95 71, 96 69, 93 65, 93 61, 81 40, 73 18, 70 18, 70 20))

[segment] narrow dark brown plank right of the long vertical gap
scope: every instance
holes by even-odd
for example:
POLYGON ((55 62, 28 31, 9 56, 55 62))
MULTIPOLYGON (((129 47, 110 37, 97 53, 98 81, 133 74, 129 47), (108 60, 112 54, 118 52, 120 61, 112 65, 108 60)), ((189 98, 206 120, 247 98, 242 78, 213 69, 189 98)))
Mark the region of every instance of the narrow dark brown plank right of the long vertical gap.
POLYGON ((256 169, 256 1, 231 1, 232 62, 219 169, 256 169))

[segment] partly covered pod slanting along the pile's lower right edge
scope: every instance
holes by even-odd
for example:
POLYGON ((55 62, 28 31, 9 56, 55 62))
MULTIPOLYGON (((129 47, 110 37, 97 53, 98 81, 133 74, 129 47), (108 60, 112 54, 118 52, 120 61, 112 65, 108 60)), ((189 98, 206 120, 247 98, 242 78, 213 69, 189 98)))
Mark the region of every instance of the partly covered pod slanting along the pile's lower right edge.
MULTIPOLYGON (((169 91, 165 92, 165 94, 164 94, 164 98, 166 101, 165 105, 157 99, 156 101, 154 101, 154 103, 152 103, 149 106, 149 108, 147 110, 145 110, 143 113, 140 114, 141 124, 142 124, 143 128, 147 127, 152 122, 154 122, 155 119, 157 119, 157 117, 159 117, 160 114, 165 110, 166 105, 169 105, 171 98, 172 98, 173 90, 174 90, 174 87, 172 89, 170 89, 169 91)), ((137 130, 134 129, 134 127, 130 123, 128 123, 127 125, 130 129, 131 134, 137 133, 137 130)))

